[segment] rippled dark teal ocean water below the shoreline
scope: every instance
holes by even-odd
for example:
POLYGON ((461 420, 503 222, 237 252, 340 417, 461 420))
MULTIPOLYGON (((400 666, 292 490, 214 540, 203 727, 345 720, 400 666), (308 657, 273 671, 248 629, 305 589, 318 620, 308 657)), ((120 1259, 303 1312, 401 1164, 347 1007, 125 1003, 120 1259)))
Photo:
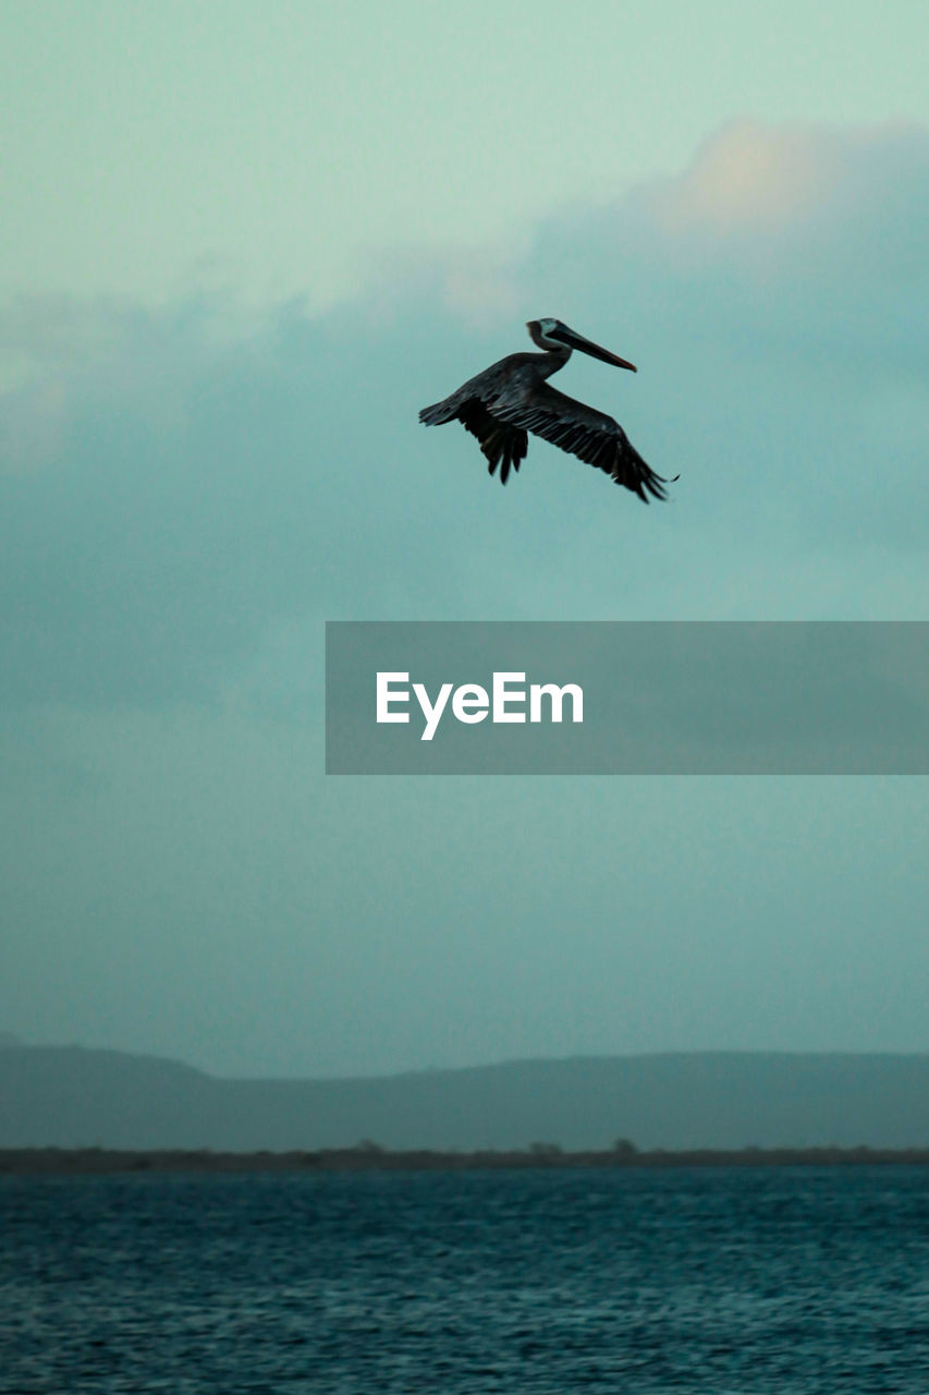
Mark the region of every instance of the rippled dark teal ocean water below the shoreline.
POLYGON ((929 1169, 0 1182, 0 1391, 929 1395, 929 1169))

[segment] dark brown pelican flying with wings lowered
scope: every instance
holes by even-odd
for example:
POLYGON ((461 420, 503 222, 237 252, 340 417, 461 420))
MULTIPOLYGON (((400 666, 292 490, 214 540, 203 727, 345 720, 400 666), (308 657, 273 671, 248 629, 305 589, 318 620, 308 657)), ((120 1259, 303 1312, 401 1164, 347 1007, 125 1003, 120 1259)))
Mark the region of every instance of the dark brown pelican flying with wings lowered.
POLYGON ((531 431, 605 470, 643 504, 649 502, 649 494, 664 499, 664 485, 670 481, 644 463, 618 421, 545 382, 565 367, 573 349, 630 372, 636 372, 636 365, 584 339, 561 319, 530 319, 526 328, 543 353, 512 353, 501 359, 469 378, 451 398, 423 407, 420 421, 427 427, 460 421, 480 441, 490 474, 499 465, 501 484, 506 484, 511 467, 519 470, 520 460, 526 459, 526 432, 531 431))

